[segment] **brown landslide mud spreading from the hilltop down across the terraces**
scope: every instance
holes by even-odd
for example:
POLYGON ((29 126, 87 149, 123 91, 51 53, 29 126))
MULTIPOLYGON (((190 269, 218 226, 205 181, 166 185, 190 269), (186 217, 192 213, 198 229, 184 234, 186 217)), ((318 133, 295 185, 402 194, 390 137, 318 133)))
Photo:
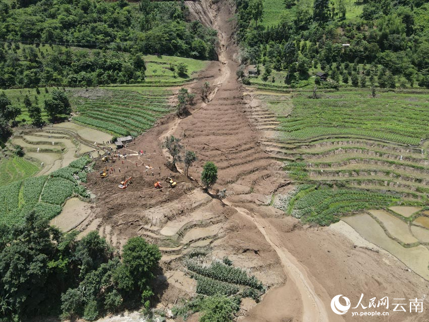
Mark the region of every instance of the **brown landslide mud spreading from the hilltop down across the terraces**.
MULTIPOLYGON (((129 154, 144 150, 145 155, 130 155, 124 163, 97 162, 97 171, 88 176, 88 188, 96 196, 93 214, 78 229, 95 223, 91 227, 118 247, 131 236, 157 243, 163 252, 157 296, 159 306, 169 308, 195 292, 182 265, 192 249, 204 249, 216 258, 228 256, 269 286, 259 304, 246 300, 239 316, 243 321, 360 320, 350 312, 335 314, 331 299, 343 294, 354 306, 364 294, 367 306, 372 297, 408 301, 429 293, 427 281, 377 246, 358 246, 346 234, 302 225, 265 205, 273 193, 291 189, 291 181, 281 171, 281 163, 262 149, 261 133, 249 117, 257 106, 243 99, 251 95, 244 95, 248 90, 236 80, 234 5, 221 0, 216 4, 193 2, 192 6, 195 19, 203 15, 204 23, 218 30, 219 62, 201 72, 203 81, 188 86, 197 94, 189 116, 166 117, 122 149, 129 154), (210 92, 203 101, 200 88, 204 81, 210 83, 210 92), (167 135, 181 138, 186 150, 197 154, 198 161, 190 169, 195 180, 167 167, 168 155, 162 148, 167 135), (219 168, 211 194, 199 185, 207 161, 219 168), (150 168, 146 172, 149 165, 153 175, 150 168), (111 166, 115 172, 100 178, 98 172, 111 166), (177 187, 169 188, 164 182, 169 176, 178 182, 177 187), (128 177, 132 177, 131 185, 119 189, 120 181, 128 177), (162 191, 153 187, 158 180, 164 185, 162 191), (217 189, 227 190, 223 202, 212 197, 217 189)), ((182 169, 183 164, 178 167, 182 169)), ((367 318, 427 321, 426 310, 419 314, 388 311, 389 316, 367 318)))

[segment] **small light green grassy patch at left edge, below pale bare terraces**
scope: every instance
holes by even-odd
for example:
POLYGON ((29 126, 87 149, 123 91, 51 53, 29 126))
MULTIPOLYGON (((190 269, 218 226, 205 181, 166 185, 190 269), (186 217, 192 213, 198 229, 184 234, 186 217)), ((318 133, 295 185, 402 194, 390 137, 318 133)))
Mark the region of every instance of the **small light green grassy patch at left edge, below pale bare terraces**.
POLYGON ((0 186, 35 175, 39 167, 23 157, 13 156, 0 161, 0 186))

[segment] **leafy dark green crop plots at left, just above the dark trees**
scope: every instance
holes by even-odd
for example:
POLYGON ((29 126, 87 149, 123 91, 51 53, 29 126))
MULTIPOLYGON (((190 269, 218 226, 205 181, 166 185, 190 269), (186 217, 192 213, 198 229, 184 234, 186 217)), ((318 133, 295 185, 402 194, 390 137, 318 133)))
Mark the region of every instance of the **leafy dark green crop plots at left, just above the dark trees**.
POLYGON ((0 187, 0 224, 21 224, 32 210, 50 220, 61 212, 61 205, 68 197, 73 194, 87 197, 72 173, 81 172, 89 162, 88 157, 81 157, 49 176, 26 178, 0 187))

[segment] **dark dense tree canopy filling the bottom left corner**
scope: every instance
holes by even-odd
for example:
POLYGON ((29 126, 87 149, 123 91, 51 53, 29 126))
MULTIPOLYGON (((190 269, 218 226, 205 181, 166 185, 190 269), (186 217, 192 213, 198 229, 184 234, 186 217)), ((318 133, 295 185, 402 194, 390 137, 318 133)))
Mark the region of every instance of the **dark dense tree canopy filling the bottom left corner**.
POLYGON ((160 259, 155 245, 135 237, 122 259, 97 232, 80 241, 29 213, 20 227, 0 226, 0 321, 37 315, 98 316, 148 305, 160 259))

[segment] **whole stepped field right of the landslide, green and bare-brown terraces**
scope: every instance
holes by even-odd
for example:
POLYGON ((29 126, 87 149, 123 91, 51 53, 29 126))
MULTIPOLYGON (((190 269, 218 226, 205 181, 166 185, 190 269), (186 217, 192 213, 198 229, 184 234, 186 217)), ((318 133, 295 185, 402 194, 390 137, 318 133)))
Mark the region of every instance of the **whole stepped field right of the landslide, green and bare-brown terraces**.
POLYGON ((279 207, 329 225, 361 209, 427 202, 429 93, 310 97, 260 92, 260 105, 250 111, 265 150, 284 160, 284 170, 303 184, 280 196, 279 207))

